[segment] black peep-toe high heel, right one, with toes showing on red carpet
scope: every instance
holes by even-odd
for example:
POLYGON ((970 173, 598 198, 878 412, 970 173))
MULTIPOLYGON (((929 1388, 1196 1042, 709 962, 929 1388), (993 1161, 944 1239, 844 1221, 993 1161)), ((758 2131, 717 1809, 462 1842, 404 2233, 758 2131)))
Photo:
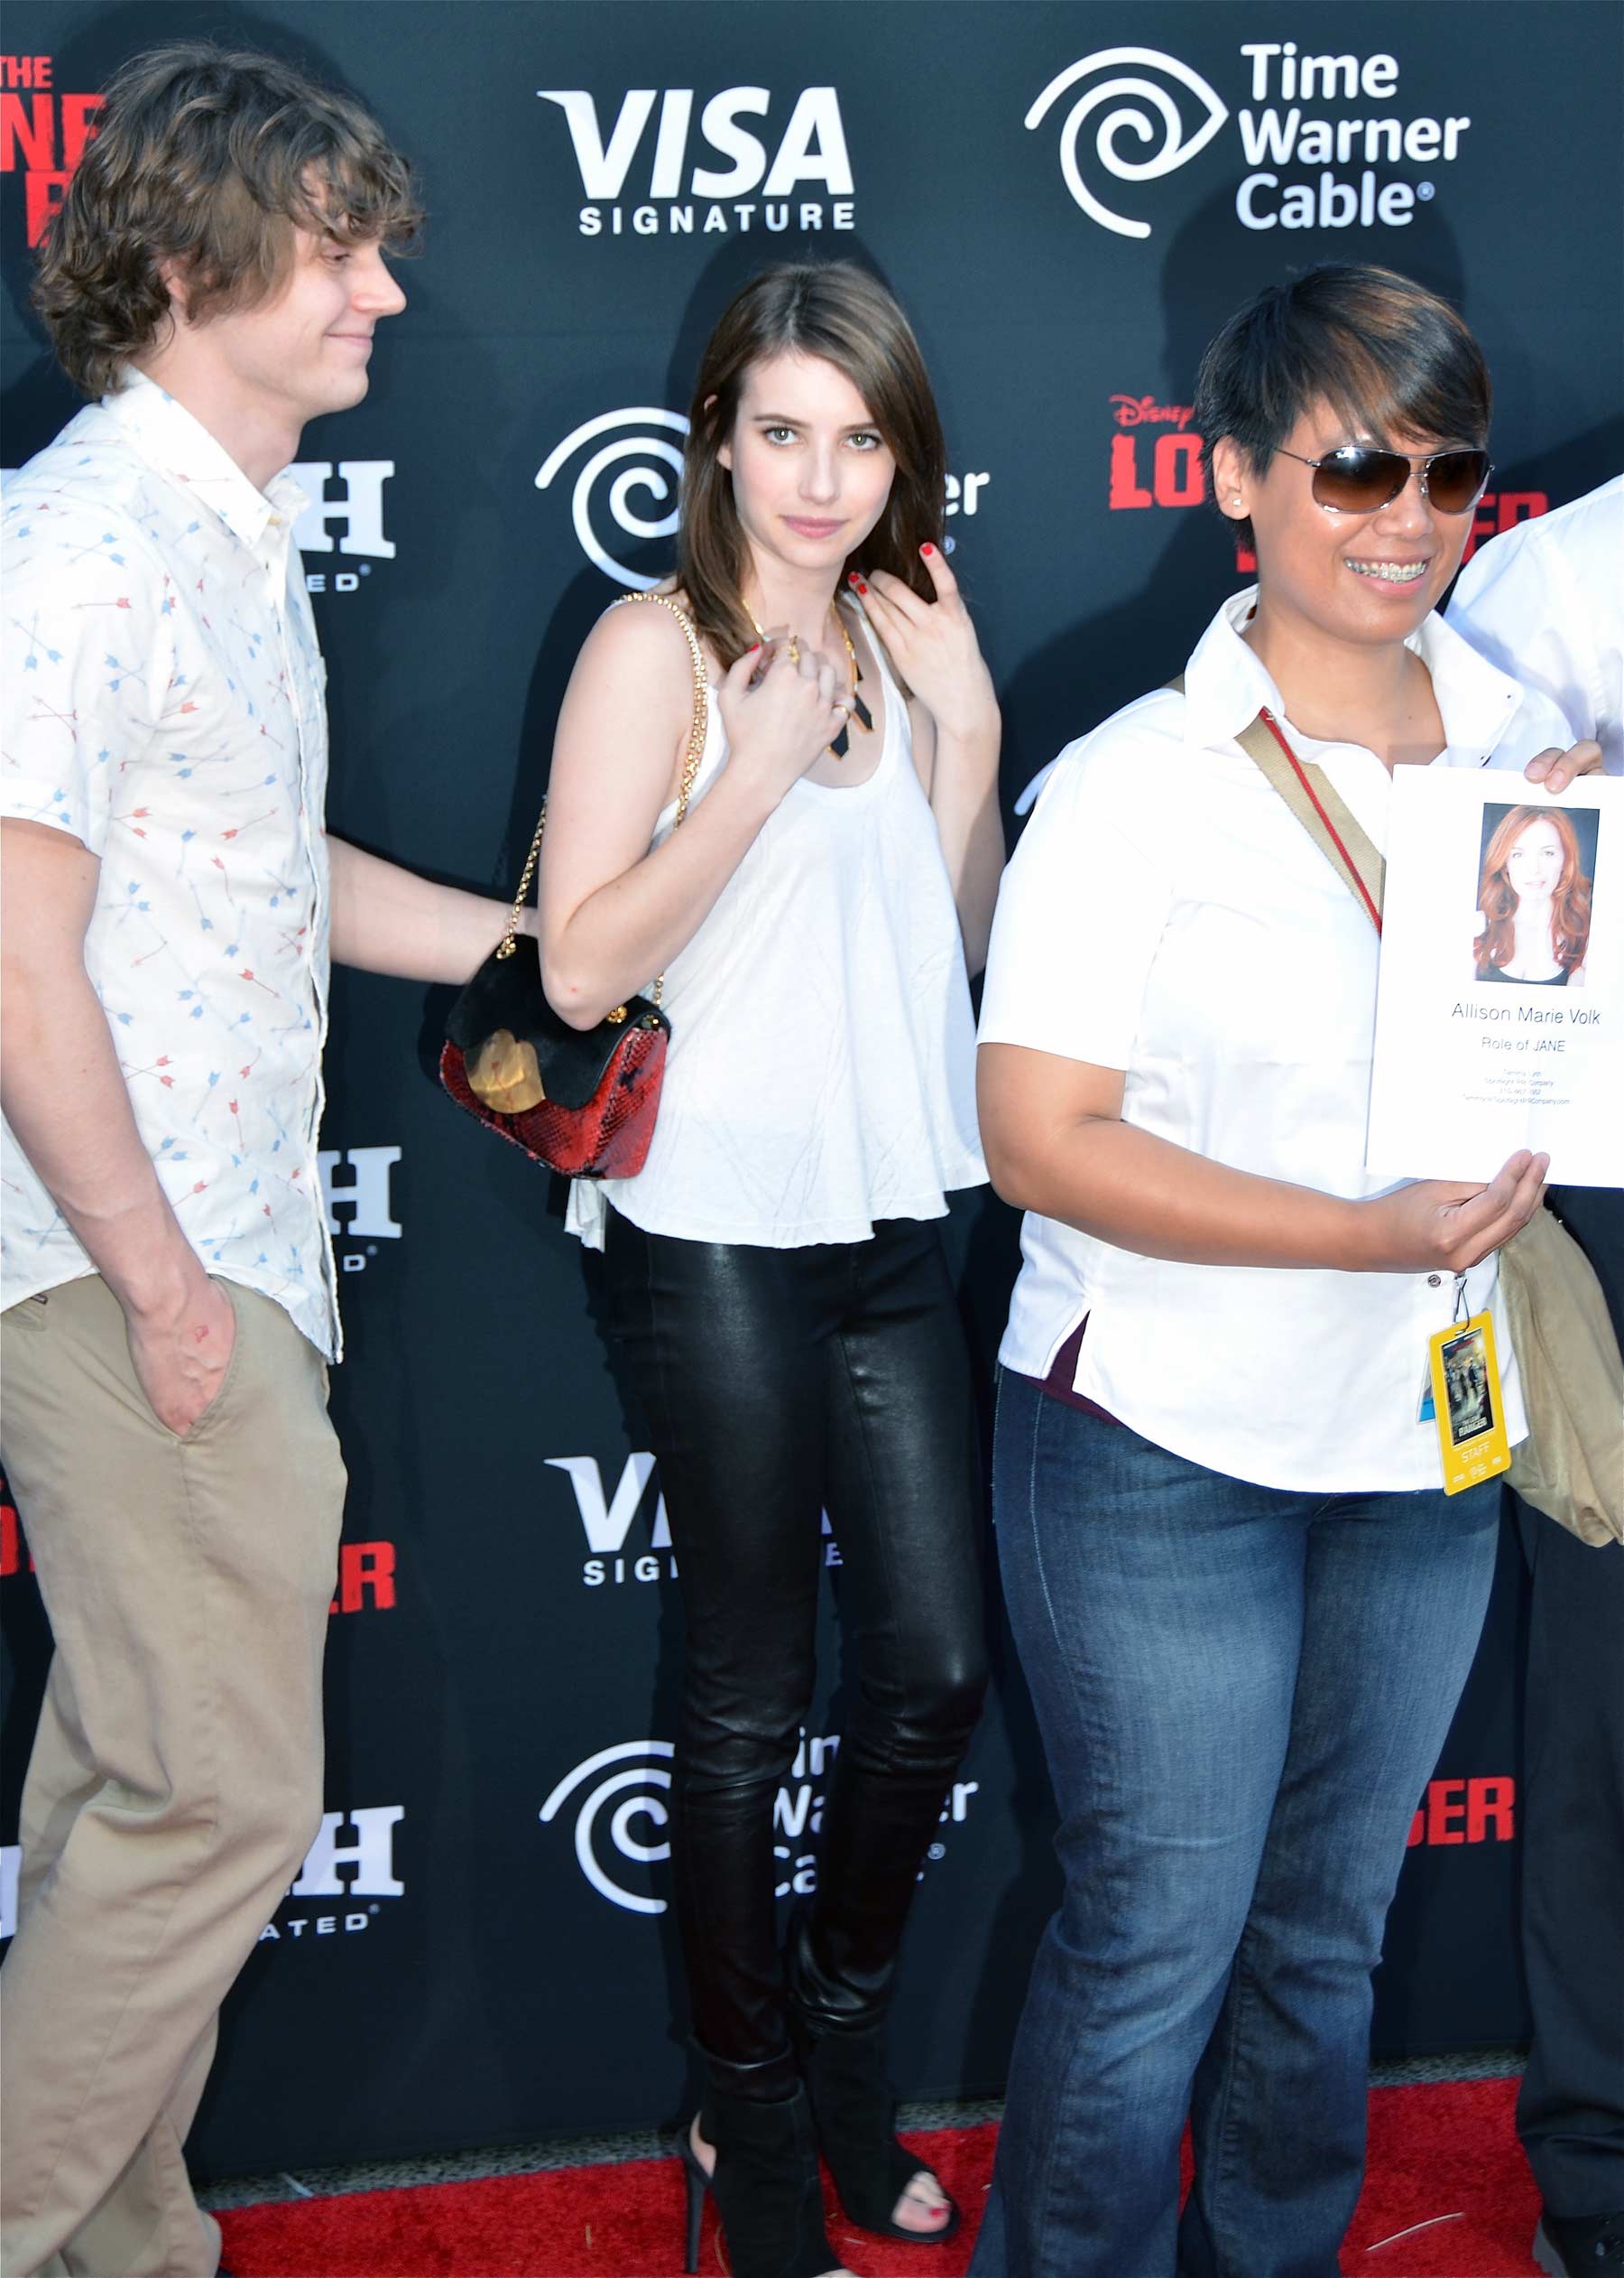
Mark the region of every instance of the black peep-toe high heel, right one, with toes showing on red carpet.
POLYGON ((818 2144, 847 2221, 904 2246, 945 2246, 959 2230, 961 2214, 938 2175, 936 2189, 948 2201, 948 2221, 938 2230, 909 2230, 891 2212, 916 2175, 934 2171, 897 2144, 897 2098, 886 2078, 884 2021, 834 2023, 790 1993, 790 2037, 818 2144))

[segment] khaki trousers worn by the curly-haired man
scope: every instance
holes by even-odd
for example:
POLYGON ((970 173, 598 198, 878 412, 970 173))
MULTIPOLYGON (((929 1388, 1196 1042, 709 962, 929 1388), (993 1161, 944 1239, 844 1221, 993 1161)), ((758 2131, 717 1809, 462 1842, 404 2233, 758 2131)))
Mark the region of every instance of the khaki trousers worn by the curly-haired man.
POLYGON ((0 1447, 57 1647, 0 1973, 5 2278, 212 2278, 180 2146, 321 1818, 344 1462, 314 1346, 221 1287, 237 1349, 184 1437, 105 1283, 0 1314, 0 1447))

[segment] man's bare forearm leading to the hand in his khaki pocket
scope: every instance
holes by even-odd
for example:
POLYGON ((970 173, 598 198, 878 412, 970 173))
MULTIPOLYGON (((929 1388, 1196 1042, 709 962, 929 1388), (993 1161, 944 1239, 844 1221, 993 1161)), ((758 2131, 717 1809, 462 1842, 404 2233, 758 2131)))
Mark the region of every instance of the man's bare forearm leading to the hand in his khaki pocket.
POLYGON ((157 1182, 107 1014, 82 968, 7 966, 0 1107, 128 1314, 182 1310, 205 1269, 157 1182))

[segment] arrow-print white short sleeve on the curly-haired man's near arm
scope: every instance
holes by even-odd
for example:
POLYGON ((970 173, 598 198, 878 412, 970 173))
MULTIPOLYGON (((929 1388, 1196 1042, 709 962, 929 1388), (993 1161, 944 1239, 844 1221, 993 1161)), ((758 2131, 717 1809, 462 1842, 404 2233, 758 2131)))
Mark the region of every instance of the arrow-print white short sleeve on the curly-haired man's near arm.
POLYGON ((107 510, 39 501, 7 517, 0 638, 0 813, 102 852, 125 775, 162 736, 173 638, 169 581, 107 510))

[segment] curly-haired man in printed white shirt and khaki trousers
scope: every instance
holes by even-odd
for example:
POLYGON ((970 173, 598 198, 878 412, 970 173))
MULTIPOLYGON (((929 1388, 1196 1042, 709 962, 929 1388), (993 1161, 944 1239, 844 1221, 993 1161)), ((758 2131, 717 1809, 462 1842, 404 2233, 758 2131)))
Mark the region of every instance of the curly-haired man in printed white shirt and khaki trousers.
POLYGON ((462 980, 503 909, 323 834, 287 469, 419 226, 348 96, 125 66, 43 246, 91 396, 7 487, 5 1462, 55 1633, 5 1966, 9 2278, 212 2278, 182 2141, 321 1816, 344 1503, 328 959, 462 980))

